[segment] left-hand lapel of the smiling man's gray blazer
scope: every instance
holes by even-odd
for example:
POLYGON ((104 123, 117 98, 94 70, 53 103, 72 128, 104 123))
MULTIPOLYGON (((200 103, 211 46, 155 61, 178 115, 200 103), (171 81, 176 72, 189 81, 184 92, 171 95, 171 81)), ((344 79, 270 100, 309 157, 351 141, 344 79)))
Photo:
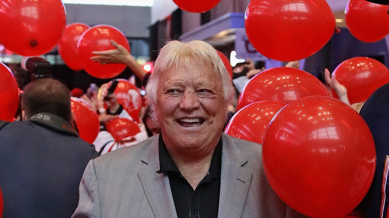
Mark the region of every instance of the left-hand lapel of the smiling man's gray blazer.
POLYGON ((158 137, 155 138, 149 151, 141 157, 143 166, 139 169, 138 177, 155 217, 177 218, 169 178, 163 173, 156 172, 160 169, 160 163, 158 137))

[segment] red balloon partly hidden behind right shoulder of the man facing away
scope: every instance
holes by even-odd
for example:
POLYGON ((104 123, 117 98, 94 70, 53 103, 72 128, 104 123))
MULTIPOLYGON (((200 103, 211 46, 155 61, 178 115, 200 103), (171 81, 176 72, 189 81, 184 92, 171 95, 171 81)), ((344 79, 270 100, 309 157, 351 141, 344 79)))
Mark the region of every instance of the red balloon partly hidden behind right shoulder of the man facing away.
POLYGON ((100 131, 97 113, 82 99, 71 97, 71 109, 80 138, 92 144, 100 131))

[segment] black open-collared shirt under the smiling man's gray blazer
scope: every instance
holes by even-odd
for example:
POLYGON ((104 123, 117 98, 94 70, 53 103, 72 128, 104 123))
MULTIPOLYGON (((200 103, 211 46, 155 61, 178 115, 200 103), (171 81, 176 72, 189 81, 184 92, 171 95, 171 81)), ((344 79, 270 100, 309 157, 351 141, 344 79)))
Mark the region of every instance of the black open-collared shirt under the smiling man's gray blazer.
POLYGON ((160 170, 167 173, 178 218, 217 218, 220 195, 221 138, 213 152, 205 177, 193 190, 170 156, 160 134, 160 170))

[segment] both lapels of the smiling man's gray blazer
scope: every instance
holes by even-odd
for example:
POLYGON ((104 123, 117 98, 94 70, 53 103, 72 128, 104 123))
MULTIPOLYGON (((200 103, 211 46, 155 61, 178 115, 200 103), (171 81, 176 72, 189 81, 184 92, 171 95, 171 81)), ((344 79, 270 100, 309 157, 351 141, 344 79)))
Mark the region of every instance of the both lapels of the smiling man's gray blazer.
MULTIPOLYGON (((160 169, 158 137, 153 136, 148 152, 141 157, 138 172, 146 197, 156 217, 177 218, 169 178, 160 169)), ((232 136, 222 134, 221 182, 218 217, 241 217, 253 173, 243 168, 247 157, 240 152, 232 136), (232 207, 233 206, 233 207, 232 207)))

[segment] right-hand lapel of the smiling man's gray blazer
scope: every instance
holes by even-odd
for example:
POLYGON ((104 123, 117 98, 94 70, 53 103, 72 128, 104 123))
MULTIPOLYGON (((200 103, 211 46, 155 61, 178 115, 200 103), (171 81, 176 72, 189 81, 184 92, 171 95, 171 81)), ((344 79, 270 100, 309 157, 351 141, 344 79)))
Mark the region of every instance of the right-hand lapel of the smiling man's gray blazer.
POLYGON ((243 168, 247 158, 229 136, 222 135, 221 182, 218 217, 241 217, 252 172, 243 168))

